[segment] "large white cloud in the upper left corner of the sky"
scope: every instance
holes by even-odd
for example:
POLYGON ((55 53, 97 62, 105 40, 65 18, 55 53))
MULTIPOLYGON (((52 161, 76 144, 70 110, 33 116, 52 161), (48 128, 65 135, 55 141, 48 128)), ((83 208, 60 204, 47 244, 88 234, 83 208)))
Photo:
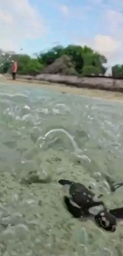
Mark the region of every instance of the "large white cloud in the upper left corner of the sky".
POLYGON ((19 50, 26 39, 45 35, 47 27, 28 0, 0 0, 0 48, 19 50))

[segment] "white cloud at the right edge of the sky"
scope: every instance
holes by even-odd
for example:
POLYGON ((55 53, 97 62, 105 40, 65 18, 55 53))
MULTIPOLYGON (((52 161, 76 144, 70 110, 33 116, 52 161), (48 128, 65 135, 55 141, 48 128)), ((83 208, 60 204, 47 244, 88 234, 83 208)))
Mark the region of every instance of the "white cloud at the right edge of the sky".
MULTIPOLYGON (((115 3, 115 0, 114 0, 115 3)), ((100 41, 100 47, 103 45, 104 54, 109 63, 123 63, 123 13, 119 8, 120 1, 117 1, 116 9, 106 9, 104 12, 104 19, 106 21, 107 31, 109 36, 104 38, 96 38, 100 41), (102 41, 102 43, 101 43, 102 41)), ((123 6, 123 5, 122 5, 123 6)))

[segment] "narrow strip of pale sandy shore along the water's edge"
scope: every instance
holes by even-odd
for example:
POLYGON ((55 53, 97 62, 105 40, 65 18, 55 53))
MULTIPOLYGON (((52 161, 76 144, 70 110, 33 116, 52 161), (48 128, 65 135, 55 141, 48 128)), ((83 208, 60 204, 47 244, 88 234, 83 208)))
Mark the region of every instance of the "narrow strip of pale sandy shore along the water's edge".
POLYGON ((98 97, 98 98, 104 98, 108 100, 116 100, 116 101, 123 101, 123 93, 118 92, 111 92, 111 91, 103 91, 103 90, 95 90, 95 89, 86 89, 86 88, 77 88, 77 87, 71 87, 66 85, 60 85, 60 84, 54 84, 50 82, 45 81, 30 81, 27 79, 20 79, 17 78, 16 81, 13 81, 11 78, 3 78, 0 77, 0 83, 1 84, 18 84, 23 86, 40 86, 46 89, 51 89, 55 91, 59 91, 62 93, 71 93, 76 95, 85 95, 89 97, 98 97))

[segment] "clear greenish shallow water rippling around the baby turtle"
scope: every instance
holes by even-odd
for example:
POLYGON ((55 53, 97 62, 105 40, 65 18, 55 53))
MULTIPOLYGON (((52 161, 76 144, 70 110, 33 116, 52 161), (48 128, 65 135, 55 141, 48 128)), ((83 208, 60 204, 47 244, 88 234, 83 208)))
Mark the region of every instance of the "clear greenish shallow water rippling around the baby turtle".
POLYGON ((121 207, 123 188, 111 195, 104 174, 123 180, 122 156, 123 104, 1 85, 0 255, 122 255, 123 225, 111 234, 73 219, 58 184, 91 183, 121 207))

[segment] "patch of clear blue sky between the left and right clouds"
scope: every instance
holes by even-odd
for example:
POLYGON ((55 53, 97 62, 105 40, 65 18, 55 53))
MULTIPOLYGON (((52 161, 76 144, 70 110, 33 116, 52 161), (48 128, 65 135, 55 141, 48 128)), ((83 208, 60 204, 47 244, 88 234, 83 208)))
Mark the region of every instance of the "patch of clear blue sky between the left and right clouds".
POLYGON ((28 43, 30 53, 33 45, 37 46, 38 50, 49 48, 54 42, 67 46, 74 43, 75 38, 93 37, 99 31, 97 22, 99 20, 99 13, 97 13, 99 6, 96 6, 96 8, 92 4, 88 6, 87 1, 51 0, 34 3, 34 0, 31 0, 30 4, 38 8, 38 12, 41 13, 45 19, 45 24, 49 27, 49 33, 45 38, 42 37, 36 42, 28 43))

